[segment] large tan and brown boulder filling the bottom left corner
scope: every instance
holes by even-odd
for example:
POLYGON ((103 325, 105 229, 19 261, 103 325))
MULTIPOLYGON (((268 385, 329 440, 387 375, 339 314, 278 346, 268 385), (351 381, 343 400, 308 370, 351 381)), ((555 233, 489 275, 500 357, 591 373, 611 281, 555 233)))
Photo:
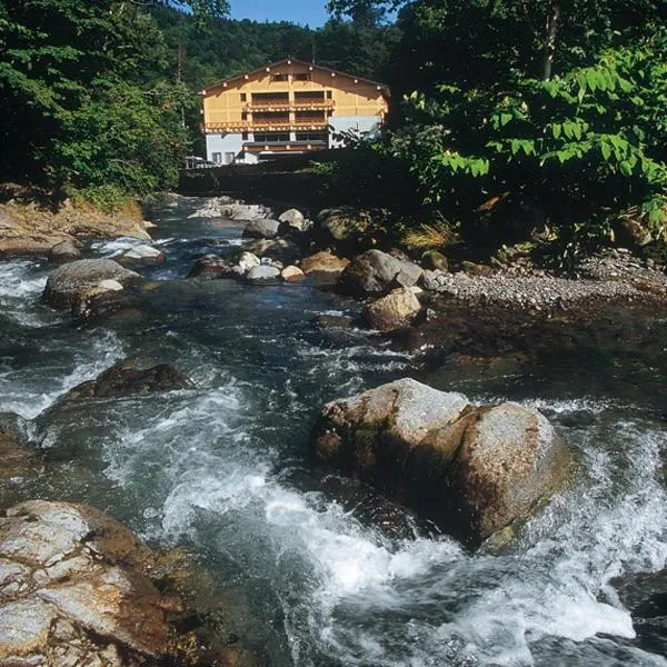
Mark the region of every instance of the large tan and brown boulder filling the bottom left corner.
POLYGON ((166 567, 168 558, 91 507, 11 507, 0 517, 0 665, 211 664, 197 630, 180 629, 183 600, 166 567))

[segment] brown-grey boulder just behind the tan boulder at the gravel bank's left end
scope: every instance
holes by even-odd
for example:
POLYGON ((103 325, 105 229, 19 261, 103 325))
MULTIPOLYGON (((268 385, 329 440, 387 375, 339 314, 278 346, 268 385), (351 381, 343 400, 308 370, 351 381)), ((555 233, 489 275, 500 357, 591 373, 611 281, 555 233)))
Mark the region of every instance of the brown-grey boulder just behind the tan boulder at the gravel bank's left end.
POLYGON ((338 287, 356 297, 379 296, 395 287, 417 285, 422 272, 411 261, 396 259, 381 250, 368 250, 351 261, 340 276, 338 287))

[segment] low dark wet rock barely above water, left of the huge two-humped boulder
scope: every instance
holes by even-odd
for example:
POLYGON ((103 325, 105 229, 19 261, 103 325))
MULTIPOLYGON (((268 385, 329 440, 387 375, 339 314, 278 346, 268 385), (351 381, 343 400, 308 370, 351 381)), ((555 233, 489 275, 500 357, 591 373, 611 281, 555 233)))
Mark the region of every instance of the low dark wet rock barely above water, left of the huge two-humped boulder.
POLYGON ((138 369, 133 361, 126 360, 119 361, 94 380, 77 385, 66 394, 64 400, 115 398, 131 394, 190 389, 193 386, 192 380, 169 364, 138 369))

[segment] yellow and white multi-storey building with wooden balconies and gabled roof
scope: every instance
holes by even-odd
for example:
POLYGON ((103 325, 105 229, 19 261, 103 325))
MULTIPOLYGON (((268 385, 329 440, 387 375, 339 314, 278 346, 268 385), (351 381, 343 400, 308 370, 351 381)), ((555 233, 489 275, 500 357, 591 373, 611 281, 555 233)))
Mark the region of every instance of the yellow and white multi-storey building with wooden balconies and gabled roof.
POLYGON ((201 91, 207 159, 252 165, 374 136, 388 110, 382 83, 286 59, 201 91))

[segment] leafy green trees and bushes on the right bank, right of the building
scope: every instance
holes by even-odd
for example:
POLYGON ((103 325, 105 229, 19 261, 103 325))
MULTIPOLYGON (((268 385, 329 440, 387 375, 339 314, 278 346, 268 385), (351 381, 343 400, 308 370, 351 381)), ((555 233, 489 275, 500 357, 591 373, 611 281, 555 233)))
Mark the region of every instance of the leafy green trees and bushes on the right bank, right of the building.
POLYGON ((664 233, 665 12, 651 0, 418 0, 390 81, 404 102, 378 150, 410 170, 416 205, 464 233, 506 193, 545 213, 564 257, 608 240, 630 207, 664 233))

